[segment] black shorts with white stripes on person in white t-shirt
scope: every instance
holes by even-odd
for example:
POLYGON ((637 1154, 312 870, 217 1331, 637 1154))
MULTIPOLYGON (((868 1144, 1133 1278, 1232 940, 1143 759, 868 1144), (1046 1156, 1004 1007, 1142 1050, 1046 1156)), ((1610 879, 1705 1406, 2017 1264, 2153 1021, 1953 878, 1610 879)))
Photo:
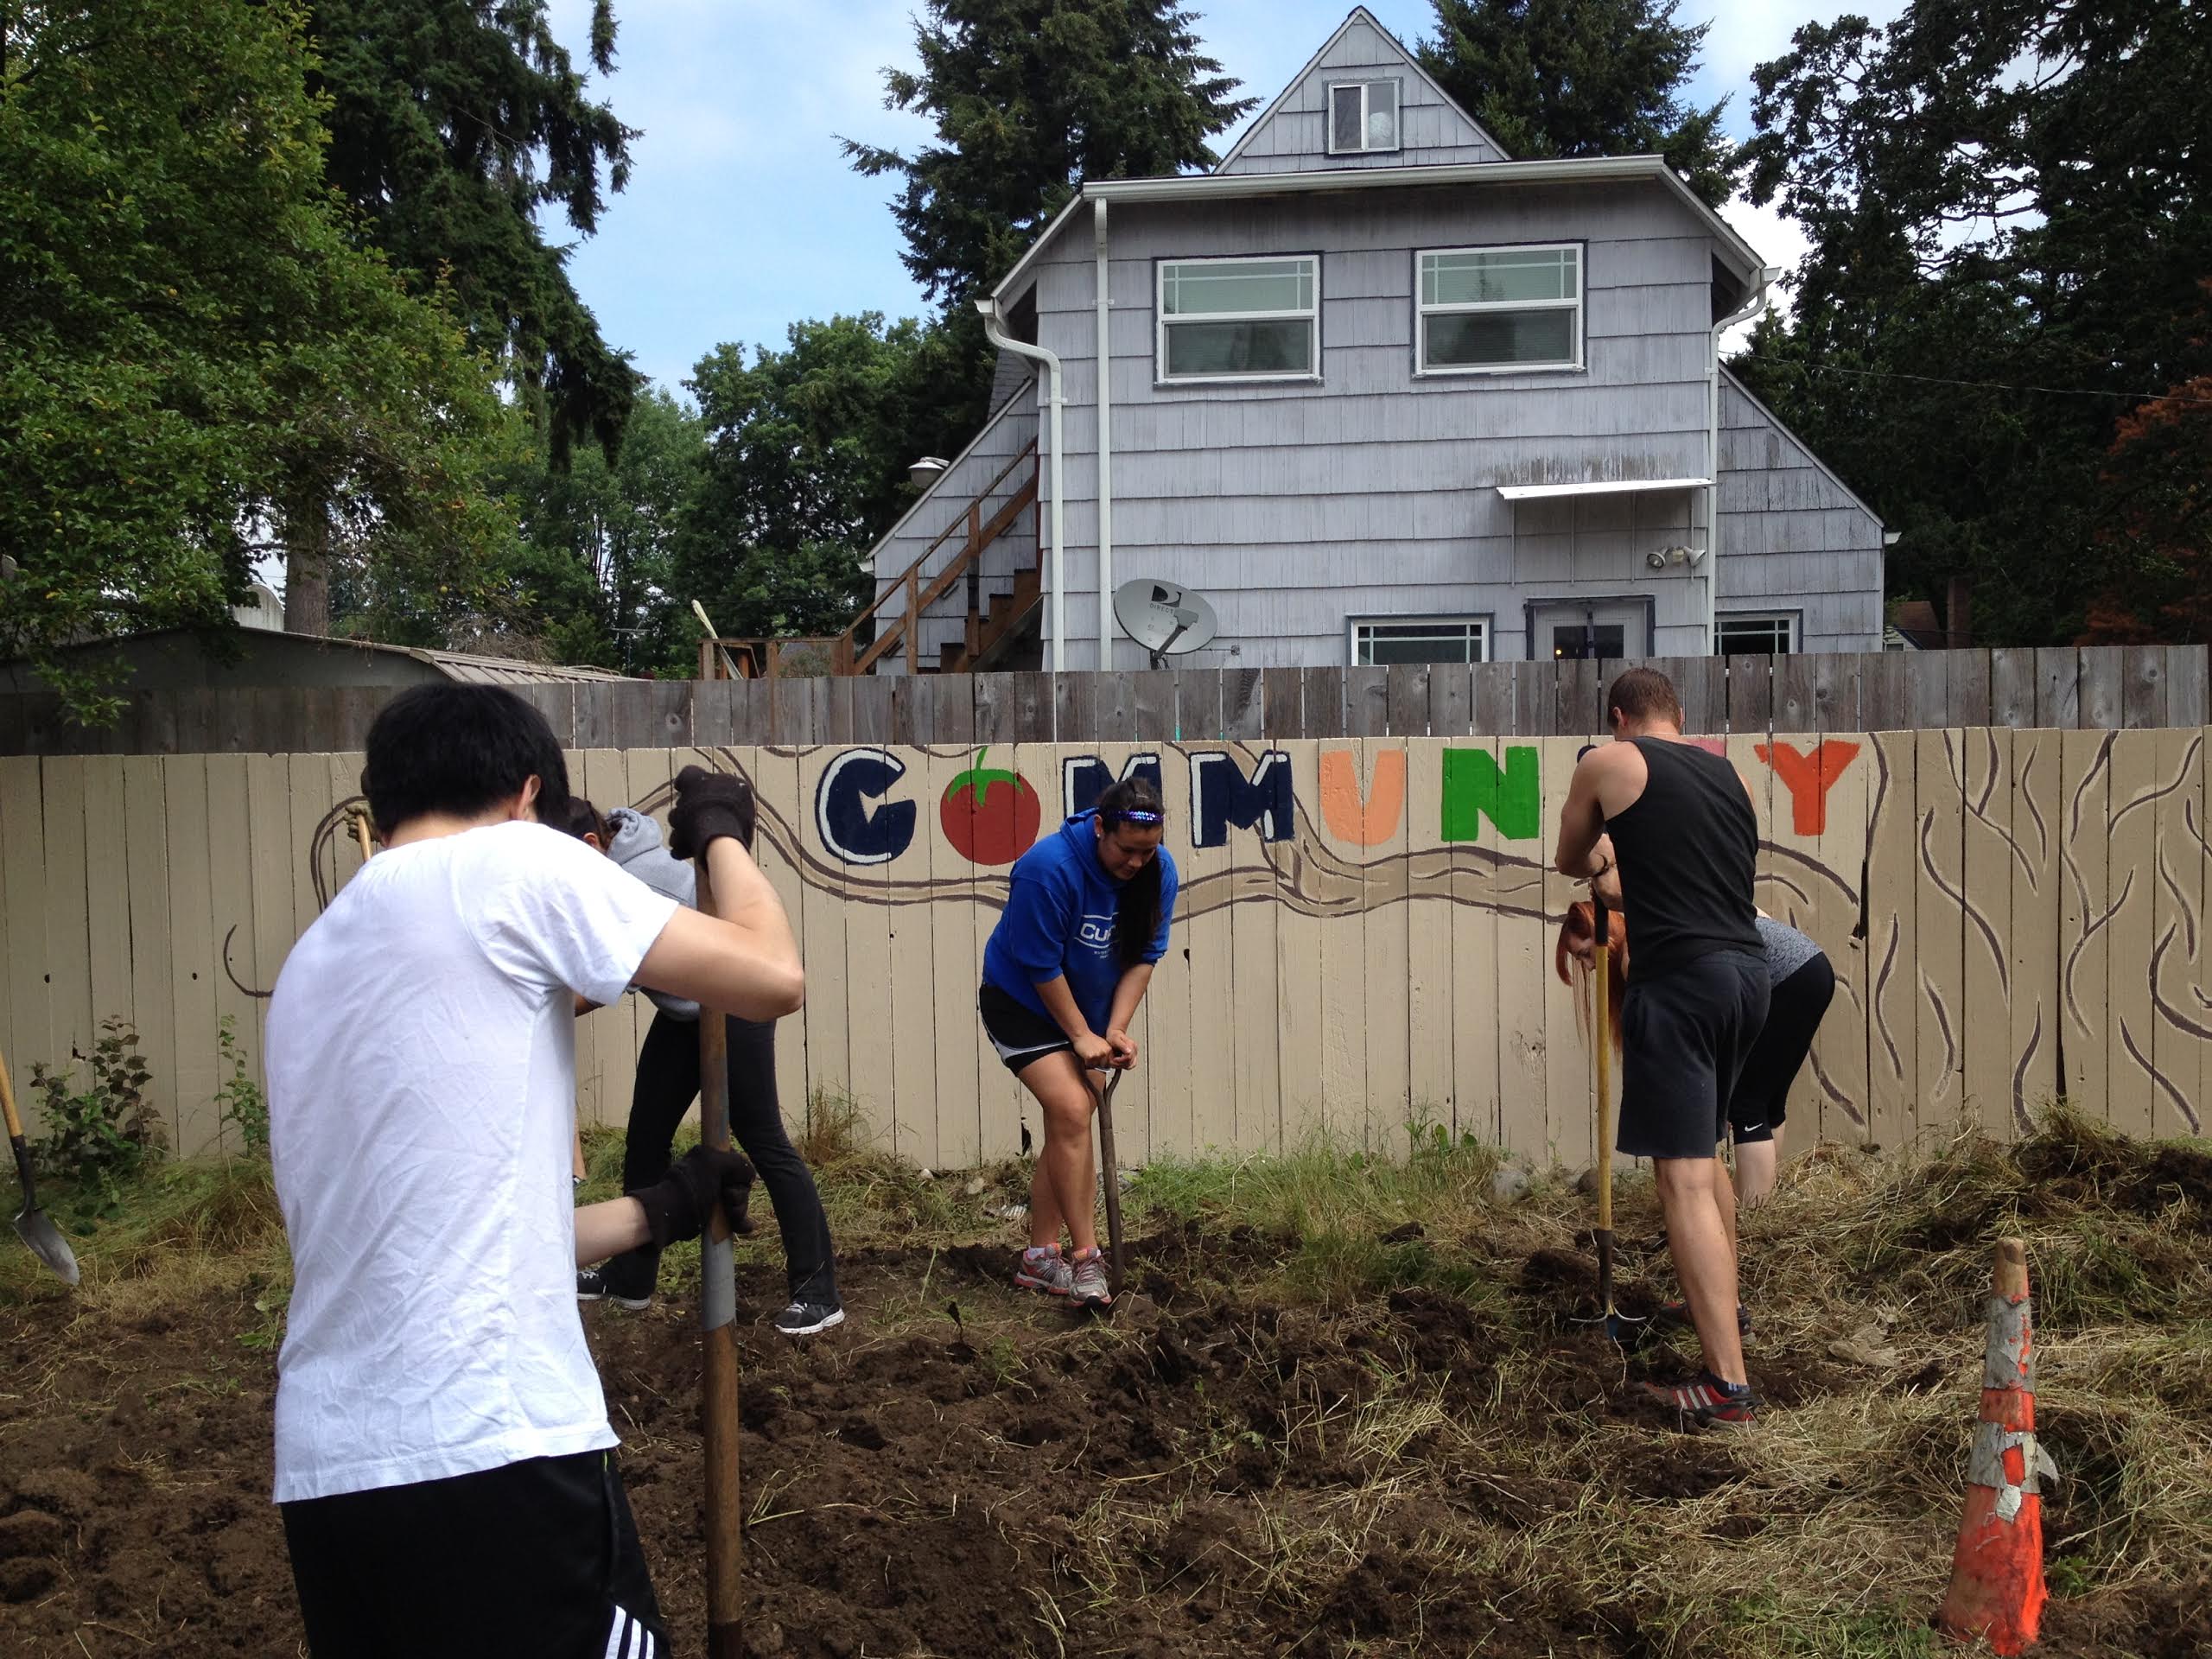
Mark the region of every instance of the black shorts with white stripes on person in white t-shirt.
POLYGON ((666 1659, 613 1453, 283 1504, 314 1659, 666 1659))

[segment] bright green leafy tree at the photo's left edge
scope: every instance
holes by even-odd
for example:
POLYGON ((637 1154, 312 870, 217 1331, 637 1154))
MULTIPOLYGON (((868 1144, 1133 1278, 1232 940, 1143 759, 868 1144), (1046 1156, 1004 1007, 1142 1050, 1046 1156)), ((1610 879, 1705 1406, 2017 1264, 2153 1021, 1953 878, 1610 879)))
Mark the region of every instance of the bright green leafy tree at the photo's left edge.
POLYGON ((303 20, 257 0, 0 2, 0 650, 232 626, 301 491, 334 549, 469 560, 504 411, 436 294, 323 181, 303 20))

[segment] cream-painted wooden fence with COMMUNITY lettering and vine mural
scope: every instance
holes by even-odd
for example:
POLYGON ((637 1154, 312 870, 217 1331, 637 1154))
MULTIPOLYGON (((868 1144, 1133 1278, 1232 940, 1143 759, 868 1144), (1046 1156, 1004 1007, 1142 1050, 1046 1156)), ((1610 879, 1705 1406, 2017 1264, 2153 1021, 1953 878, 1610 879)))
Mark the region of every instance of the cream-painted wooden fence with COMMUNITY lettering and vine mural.
MULTIPOLYGON (((2203 730, 1703 739, 1761 807, 1761 905, 1827 949, 1836 1004, 1792 1121, 1896 1146, 2011 1133, 2066 1093, 2130 1133, 2199 1133, 2212 1086, 2203 730)), ((1584 739, 586 750, 602 807, 661 810, 692 761, 761 794, 761 860, 807 962, 779 1084, 852 1095, 929 1166, 1020 1146, 1024 1095, 975 1026, 1006 867, 1115 776, 1150 772, 1183 869, 1135 1035, 1124 1157, 1444 1124, 1593 1150, 1590 1053, 1548 869, 1584 739)), ((221 1146, 217 1031, 358 867, 354 754, 0 759, 0 1051, 88 1051, 131 1020, 188 1152, 221 1146)), ((619 1121, 650 1009, 577 1026, 580 1110, 619 1121)), ((1801 1135, 1803 1144, 1805 1137, 1801 1135)))

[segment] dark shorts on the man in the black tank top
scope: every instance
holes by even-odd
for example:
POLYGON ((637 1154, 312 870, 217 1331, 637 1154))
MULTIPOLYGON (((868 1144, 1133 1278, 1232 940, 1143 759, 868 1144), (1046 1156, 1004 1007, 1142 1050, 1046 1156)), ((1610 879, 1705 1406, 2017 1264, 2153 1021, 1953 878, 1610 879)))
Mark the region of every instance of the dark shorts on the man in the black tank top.
POLYGON ((1767 1018, 1767 962, 1708 951, 1652 973, 1621 1000, 1621 1135, 1628 1157, 1712 1157, 1728 1099, 1767 1018))

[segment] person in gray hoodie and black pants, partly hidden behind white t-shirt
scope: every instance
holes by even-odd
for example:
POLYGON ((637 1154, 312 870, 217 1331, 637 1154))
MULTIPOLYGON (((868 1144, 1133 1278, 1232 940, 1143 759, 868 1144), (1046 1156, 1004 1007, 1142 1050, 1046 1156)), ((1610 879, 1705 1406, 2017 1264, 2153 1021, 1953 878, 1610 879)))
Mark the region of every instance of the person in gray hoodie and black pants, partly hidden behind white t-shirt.
MULTIPOLYGON (((580 803, 580 821, 571 834, 599 847, 608 858, 637 876, 657 894, 697 909, 699 878, 692 867, 668 852, 661 825, 648 812, 615 807, 593 830, 580 803)), ((750 849, 750 836, 745 838, 750 849)), ((677 1124, 699 1097, 699 1004, 661 991, 653 1000, 653 1029, 637 1053, 637 1082, 630 1088, 630 1126, 622 1152, 622 1186, 657 1181, 668 1172, 677 1124)), ((730 1020, 730 1139, 752 1159, 768 1188, 768 1201, 783 1232, 790 1305, 776 1314, 785 1336, 814 1336, 845 1323, 845 1303, 836 1292, 836 1263, 830 1243, 830 1219, 823 1214, 814 1175, 783 1130, 776 1106, 776 1024, 774 1020, 730 1020)), ((602 1267, 577 1274, 577 1296, 608 1298, 617 1307, 639 1312, 653 1305, 659 1279, 659 1250, 644 1245, 615 1256, 602 1267)))

